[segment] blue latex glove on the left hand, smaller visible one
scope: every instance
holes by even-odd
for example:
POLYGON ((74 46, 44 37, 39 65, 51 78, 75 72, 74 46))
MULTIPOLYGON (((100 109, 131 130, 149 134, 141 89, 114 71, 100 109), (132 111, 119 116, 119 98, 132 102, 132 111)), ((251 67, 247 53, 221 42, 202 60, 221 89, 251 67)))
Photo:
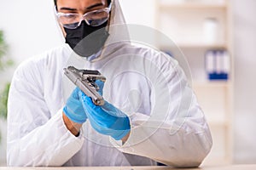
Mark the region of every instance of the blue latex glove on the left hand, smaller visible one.
POLYGON ((79 92, 82 92, 79 88, 73 90, 73 93, 67 99, 67 104, 63 108, 63 112, 71 121, 83 124, 87 116, 79 100, 79 92))

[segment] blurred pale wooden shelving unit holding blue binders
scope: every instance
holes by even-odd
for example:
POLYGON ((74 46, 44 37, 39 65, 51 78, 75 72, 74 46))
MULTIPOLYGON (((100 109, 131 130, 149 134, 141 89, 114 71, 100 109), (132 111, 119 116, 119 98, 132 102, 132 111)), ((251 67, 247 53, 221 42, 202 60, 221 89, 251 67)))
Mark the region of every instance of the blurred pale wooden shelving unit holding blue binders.
MULTIPOLYGON (((167 40, 159 37, 158 47, 163 51, 180 48, 193 74, 192 88, 212 129, 213 147, 204 165, 232 162, 232 115, 233 115, 233 58, 230 55, 229 80, 205 80, 205 54, 209 50, 226 50, 232 54, 230 0, 209 1, 155 0, 155 26, 165 32, 167 40), (206 19, 218 20, 218 31, 212 31, 212 43, 207 43, 206 19), (172 42, 172 39, 175 42, 172 42), (215 41, 214 41, 215 40, 215 41), (213 42, 214 41, 214 42, 213 42), (170 43, 170 44, 168 44, 170 43), (176 47, 174 47, 176 46, 176 47), (197 78, 197 79, 196 79, 197 78), (215 141, 214 141, 215 140, 215 141)), ((210 31, 211 33, 211 31, 210 31)), ((216 61, 217 62, 217 61, 216 61)))

